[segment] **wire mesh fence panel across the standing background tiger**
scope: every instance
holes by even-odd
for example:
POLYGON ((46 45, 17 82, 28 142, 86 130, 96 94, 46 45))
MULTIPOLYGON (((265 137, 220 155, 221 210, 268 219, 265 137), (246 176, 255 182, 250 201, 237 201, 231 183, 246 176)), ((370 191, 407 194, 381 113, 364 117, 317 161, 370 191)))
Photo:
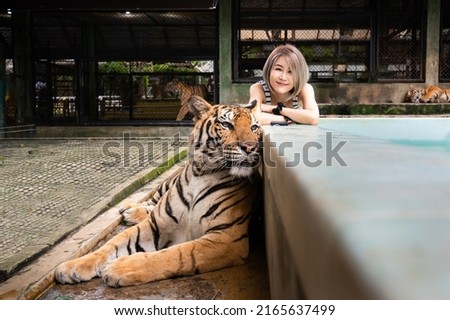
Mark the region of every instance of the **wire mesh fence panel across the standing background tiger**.
MULTIPOLYGON (((190 63, 182 65, 182 69, 189 65, 192 70, 99 74, 99 119, 177 120, 191 94, 213 103, 213 72, 198 72, 190 63)), ((184 115, 178 120, 189 119, 189 115, 184 115)))

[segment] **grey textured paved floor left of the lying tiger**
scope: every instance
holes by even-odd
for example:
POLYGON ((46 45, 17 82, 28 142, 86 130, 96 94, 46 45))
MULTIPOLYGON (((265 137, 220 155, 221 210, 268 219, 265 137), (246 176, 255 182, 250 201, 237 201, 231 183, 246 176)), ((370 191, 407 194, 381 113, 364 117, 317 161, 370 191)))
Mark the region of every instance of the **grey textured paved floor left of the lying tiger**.
POLYGON ((0 140, 0 297, 4 281, 175 162, 186 140, 0 140))

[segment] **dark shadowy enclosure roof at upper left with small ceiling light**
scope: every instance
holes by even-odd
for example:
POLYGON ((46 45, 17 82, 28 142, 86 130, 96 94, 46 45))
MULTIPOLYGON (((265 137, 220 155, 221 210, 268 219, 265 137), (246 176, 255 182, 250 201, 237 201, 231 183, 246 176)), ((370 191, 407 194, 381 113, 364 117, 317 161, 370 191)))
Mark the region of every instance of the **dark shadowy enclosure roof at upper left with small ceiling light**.
POLYGON ((10 58, 10 28, 31 23, 33 55, 38 59, 73 59, 89 50, 97 60, 210 60, 217 54, 216 4, 217 0, 3 0, 0 6, 13 14, 0 10, 0 41, 10 58))

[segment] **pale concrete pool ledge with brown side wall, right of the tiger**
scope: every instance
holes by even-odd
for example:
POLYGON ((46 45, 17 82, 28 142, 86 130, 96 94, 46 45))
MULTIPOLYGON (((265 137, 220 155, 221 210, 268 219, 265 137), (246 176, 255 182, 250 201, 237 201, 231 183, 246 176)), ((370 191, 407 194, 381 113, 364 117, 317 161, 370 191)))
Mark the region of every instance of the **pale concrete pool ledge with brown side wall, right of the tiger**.
POLYGON ((442 176, 450 171, 449 155, 331 130, 325 122, 264 128, 273 298, 301 298, 302 290, 312 299, 448 298, 449 286, 439 284, 445 274, 433 265, 446 263, 438 249, 447 241, 440 226, 447 223, 444 210, 450 205, 443 197, 450 182, 442 176), (335 159, 327 166, 327 132, 332 147, 347 141, 341 152, 346 167, 335 159), (303 159, 308 142, 317 143, 310 145, 309 163, 322 159, 322 164, 292 166, 303 159), (427 166, 430 157, 433 166, 427 166), (433 231, 435 238, 428 236, 433 231), (404 240, 396 239, 396 232, 404 240), (423 261, 409 254, 414 250, 423 261), (402 268, 405 275, 398 274, 402 268), (276 286, 292 282, 297 284, 290 292, 289 286, 276 286))

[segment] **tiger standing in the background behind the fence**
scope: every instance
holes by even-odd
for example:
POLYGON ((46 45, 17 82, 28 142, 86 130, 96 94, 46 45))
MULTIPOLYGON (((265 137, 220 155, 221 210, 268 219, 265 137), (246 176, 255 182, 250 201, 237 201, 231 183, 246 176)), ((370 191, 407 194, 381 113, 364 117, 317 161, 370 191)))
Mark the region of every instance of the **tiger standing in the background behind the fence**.
POLYGON ((173 79, 172 81, 167 83, 167 85, 165 87, 165 92, 168 92, 168 93, 171 93, 173 95, 180 97, 181 107, 180 107, 180 111, 178 111, 178 114, 176 117, 177 121, 183 120, 186 117, 186 115, 188 114, 189 109, 188 109, 187 102, 188 102, 188 99, 190 96, 197 95, 197 96, 200 96, 200 97, 206 99, 206 97, 208 95, 208 91, 204 84, 191 86, 191 85, 187 85, 186 83, 184 83, 178 79, 173 79))

